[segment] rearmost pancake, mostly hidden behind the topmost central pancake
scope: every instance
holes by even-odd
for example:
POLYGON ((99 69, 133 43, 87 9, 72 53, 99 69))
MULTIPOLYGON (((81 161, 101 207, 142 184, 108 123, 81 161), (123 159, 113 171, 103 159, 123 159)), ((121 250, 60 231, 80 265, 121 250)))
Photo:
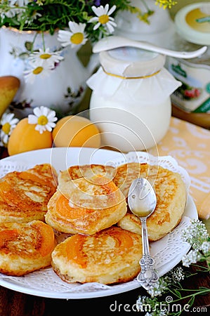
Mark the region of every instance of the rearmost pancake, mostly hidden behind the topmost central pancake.
POLYGON ((78 178, 92 178, 100 174, 106 178, 114 178, 115 168, 112 166, 104 166, 102 164, 84 164, 82 166, 70 166, 67 170, 60 171, 58 174, 58 182, 62 184, 70 180, 78 178))

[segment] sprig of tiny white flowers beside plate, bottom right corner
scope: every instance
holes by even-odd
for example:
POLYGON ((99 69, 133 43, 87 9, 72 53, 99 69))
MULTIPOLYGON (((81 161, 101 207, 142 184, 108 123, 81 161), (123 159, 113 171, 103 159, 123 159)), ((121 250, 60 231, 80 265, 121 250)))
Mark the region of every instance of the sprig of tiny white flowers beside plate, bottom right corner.
POLYGON ((181 239, 188 242, 191 246, 188 254, 183 256, 183 266, 189 267, 194 265, 195 272, 185 271, 178 265, 166 275, 159 277, 153 287, 147 290, 150 296, 139 296, 136 306, 140 312, 146 312, 145 316, 179 316, 184 312, 183 306, 188 306, 188 310, 192 307, 195 297, 210 293, 207 287, 199 287, 198 289, 185 289, 183 287, 183 279, 197 275, 199 272, 209 272, 210 270, 210 237, 206 226, 200 220, 191 220, 188 228, 183 230, 181 239), (207 267, 202 267, 199 263, 206 261, 207 267), (165 301, 164 301, 165 298, 165 301), (185 302, 185 305, 181 303, 185 302), (171 306, 176 305, 176 311, 171 310, 171 306))

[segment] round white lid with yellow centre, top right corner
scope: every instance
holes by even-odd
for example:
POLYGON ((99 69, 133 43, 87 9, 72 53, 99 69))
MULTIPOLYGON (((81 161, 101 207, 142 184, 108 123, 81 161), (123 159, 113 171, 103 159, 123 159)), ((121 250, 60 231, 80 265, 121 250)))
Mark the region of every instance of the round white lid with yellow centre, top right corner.
POLYGON ((178 34, 195 44, 210 45, 210 3, 198 2, 183 7, 175 16, 178 34))

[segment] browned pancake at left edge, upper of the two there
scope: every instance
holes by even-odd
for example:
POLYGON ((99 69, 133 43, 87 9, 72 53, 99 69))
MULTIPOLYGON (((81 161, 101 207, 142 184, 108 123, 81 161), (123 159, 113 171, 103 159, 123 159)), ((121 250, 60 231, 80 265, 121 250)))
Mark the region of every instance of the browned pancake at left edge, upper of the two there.
POLYGON ((44 220, 47 204, 57 188, 50 164, 13 171, 0 179, 0 223, 44 220))

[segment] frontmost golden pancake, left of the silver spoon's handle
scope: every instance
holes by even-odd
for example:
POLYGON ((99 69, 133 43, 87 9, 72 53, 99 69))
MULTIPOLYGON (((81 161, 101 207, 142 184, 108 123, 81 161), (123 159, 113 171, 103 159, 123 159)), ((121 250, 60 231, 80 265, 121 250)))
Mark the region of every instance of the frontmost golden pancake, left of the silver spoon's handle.
POLYGON ((52 267, 65 282, 129 282, 140 272, 141 237, 112 226, 92 236, 73 235, 52 253, 52 267))

